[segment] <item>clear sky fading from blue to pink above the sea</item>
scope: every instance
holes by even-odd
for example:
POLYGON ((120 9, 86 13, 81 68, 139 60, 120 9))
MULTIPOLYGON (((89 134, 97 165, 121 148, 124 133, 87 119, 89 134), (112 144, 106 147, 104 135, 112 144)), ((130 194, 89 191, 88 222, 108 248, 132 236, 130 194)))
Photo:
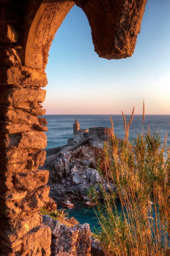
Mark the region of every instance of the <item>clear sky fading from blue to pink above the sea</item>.
POLYGON ((49 51, 46 114, 170 114, 170 0, 148 0, 134 54, 107 60, 94 52, 76 5, 49 51))

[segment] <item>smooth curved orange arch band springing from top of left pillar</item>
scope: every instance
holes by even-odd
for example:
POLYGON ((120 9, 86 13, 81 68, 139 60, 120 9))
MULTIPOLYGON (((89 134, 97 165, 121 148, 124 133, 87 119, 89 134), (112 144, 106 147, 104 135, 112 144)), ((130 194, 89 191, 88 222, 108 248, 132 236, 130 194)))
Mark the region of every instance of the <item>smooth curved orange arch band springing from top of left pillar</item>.
POLYGON ((54 36, 73 5, 71 0, 42 1, 31 24, 28 23, 24 45, 25 66, 45 69, 54 36))

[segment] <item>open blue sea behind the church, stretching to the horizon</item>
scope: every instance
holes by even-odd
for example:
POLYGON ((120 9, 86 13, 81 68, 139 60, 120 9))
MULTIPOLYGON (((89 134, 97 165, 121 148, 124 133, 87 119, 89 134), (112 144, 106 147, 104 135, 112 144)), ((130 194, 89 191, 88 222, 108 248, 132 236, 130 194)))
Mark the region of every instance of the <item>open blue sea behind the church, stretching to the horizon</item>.
MULTIPOLYGON (((92 126, 111 127, 109 115, 45 115, 49 131, 47 135, 47 148, 58 147, 67 144, 67 139, 73 137, 73 122, 77 118, 80 128, 92 126)), ((117 137, 124 137, 124 123, 122 115, 111 115, 114 123, 114 133, 117 137)), ((125 115, 130 120, 130 115, 125 115)), ((151 133, 159 131, 161 140, 164 141, 168 131, 167 144, 170 145, 170 115, 145 115, 144 129, 151 133)), ((142 132, 142 115, 134 115, 129 130, 129 138, 136 138, 137 133, 142 132)))

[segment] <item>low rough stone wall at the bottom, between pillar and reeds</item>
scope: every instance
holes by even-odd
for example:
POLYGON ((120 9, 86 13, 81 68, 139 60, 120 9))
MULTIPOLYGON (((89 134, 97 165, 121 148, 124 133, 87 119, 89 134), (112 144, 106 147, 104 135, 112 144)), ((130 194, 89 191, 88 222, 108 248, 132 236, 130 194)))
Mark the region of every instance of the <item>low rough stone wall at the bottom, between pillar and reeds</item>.
POLYGON ((58 220, 43 215, 43 223, 50 227, 52 232, 51 255, 67 252, 71 256, 90 256, 91 231, 89 224, 67 227, 58 220))

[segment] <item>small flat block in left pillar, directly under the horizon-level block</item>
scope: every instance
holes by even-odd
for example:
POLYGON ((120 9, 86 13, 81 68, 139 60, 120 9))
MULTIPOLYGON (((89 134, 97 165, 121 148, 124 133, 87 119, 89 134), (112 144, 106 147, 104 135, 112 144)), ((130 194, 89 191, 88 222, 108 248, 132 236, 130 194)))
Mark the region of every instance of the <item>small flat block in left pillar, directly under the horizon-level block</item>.
POLYGON ((21 133, 30 130, 30 126, 28 124, 11 124, 11 125, 4 125, 1 128, 2 133, 21 133))

